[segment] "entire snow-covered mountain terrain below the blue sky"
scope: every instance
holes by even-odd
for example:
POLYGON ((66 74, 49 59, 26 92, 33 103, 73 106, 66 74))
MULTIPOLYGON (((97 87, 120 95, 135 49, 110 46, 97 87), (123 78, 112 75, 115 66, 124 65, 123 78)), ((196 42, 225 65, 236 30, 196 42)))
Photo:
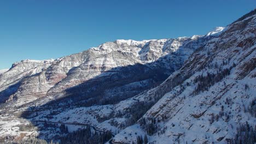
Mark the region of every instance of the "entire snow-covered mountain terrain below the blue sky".
POLYGON ((255 35, 256 10, 206 35, 15 63, 0 73, 0 142, 79 143, 81 124, 111 131, 107 143, 253 142, 255 35))

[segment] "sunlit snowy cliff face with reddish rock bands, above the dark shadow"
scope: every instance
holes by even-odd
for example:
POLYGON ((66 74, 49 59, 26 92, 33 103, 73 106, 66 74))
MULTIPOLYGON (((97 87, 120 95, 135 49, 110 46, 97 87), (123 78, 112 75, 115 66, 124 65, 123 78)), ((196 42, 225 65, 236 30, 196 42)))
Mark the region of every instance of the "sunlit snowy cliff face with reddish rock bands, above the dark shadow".
POLYGON ((46 96, 54 99, 64 97, 67 88, 108 77, 127 65, 159 63, 156 61, 164 56, 166 60, 162 59, 161 63, 168 67, 163 67, 162 73, 171 74, 202 44, 198 39, 199 36, 193 39, 116 40, 55 60, 14 63, 0 76, 1 99, 15 100, 16 106, 21 106, 46 96))

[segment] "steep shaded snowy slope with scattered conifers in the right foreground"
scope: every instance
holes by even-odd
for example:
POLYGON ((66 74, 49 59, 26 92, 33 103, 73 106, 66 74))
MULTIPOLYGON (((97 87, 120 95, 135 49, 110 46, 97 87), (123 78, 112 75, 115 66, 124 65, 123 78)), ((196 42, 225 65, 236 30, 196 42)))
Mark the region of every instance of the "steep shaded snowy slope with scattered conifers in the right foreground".
POLYGON ((252 13, 194 52, 159 87, 139 95, 136 99, 145 103, 164 96, 112 142, 137 142, 141 140, 138 136, 144 140, 146 134, 152 143, 231 143, 241 138, 236 133, 251 136, 245 143, 252 142, 256 122, 255 10, 252 13))

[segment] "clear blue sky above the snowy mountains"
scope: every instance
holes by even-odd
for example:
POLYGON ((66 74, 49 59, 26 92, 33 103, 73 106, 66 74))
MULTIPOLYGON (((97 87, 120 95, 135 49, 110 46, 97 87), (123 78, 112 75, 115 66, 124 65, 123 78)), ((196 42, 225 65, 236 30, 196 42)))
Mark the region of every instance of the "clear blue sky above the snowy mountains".
POLYGON ((206 34, 255 7, 255 0, 3 0, 0 69, 21 59, 58 58, 115 39, 206 34))

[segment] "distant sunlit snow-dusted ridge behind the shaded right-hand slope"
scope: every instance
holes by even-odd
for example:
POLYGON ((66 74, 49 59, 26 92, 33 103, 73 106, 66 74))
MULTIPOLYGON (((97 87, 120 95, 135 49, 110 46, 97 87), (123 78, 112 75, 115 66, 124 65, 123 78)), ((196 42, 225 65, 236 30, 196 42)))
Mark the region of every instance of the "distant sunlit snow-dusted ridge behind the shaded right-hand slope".
MULTIPOLYGON (((63 88, 66 89, 68 87, 78 85, 81 82, 84 82, 96 75, 99 75, 100 73, 102 73, 102 71, 106 71, 117 66, 133 65, 135 63, 146 64, 149 62, 154 62, 158 58, 163 57, 170 52, 176 52, 178 47, 182 46, 182 43, 189 43, 189 41, 195 41, 198 38, 200 38, 200 36, 193 37, 193 39, 177 38, 142 41, 115 40, 113 42, 107 42, 99 45, 98 47, 92 47, 89 50, 75 53, 66 57, 61 57, 58 59, 50 59, 46 61, 22 60, 21 62, 14 63, 13 67, 9 71, 7 71, 7 73, 0 75, 0 79, 2 78, 2 83, 0 83, 0 86, 3 89, 8 86, 14 85, 17 80, 22 81, 24 77, 27 77, 26 79, 36 79, 35 81, 32 80, 34 81, 33 83, 35 83, 36 81, 39 81, 41 79, 40 77, 42 77, 42 79, 44 79, 44 82, 42 83, 43 85, 40 87, 44 87, 45 90, 43 90, 43 88, 39 88, 38 86, 35 87, 34 85, 30 86, 30 89, 35 89, 38 93, 38 97, 43 97, 43 95, 49 94, 52 95, 54 93, 60 93, 61 91, 63 91, 63 88), (18 65, 20 66, 18 67, 18 65), (90 68, 90 65, 94 65, 94 67, 90 68), (99 65, 100 67, 98 67, 97 65, 99 65), (98 69, 96 72, 97 74, 94 73, 93 75, 91 75, 92 73, 90 72, 90 69, 98 69), (11 74, 11 76, 8 76, 8 73, 13 74, 11 74), (15 77, 15 73, 17 73, 18 76, 15 77), (85 73, 88 73, 89 75, 86 76, 84 75, 85 73), (6 81, 6 78, 4 77, 7 77, 9 81, 8 85, 3 84, 6 81), (79 80, 75 80, 73 84, 70 85, 71 81, 69 80, 69 77, 73 79, 72 81, 77 79, 75 77, 80 78, 79 80), (10 79, 13 79, 15 81, 11 82, 12 80, 10 79), (65 81, 67 81, 66 83, 68 83, 68 85, 66 85, 65 83, 63 84, 64 86, 61 85, 61 83, 65 81)), ((185 55, 189 55, 189 53, 185 55)), ((19 87, 22 87, 22 85, 19 87)), ((19 92, 19 89, 16 89, 19 92)), ((18 95, 19 94, 22 95, 22 91, 20 91, 18 95)), ((27 93, 25 94, 27 95, 27 93)), ((15 94, 11 93, 10 98, 13 99, 13 97, 16 96, 15 94)), ((31 100, 34 99, 35 98, 31 98, 31 100)))

